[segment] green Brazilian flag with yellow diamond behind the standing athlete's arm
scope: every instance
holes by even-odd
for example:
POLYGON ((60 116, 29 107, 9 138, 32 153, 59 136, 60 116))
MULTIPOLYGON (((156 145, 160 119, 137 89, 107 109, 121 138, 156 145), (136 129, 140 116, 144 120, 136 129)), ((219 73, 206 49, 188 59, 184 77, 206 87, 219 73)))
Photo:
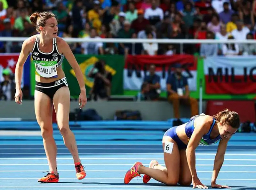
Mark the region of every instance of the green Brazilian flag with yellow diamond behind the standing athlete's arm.
MULTIPOLYGON (((89 72, 93 68, 94 64, 103 60, 106 63, 105 69, 112 74, 112 86, 111 95, 123 95, 123 69, 124 69, 124 56, 121 55, 76 55, 76 60, 84 74, 84 84, 87 94, 93 87, 93 78, 88 77, 89 72)), ((68 61, 64 59, 63 70, 67 77, 70 95, 78 97, 80 94, 80 88, 76 80, 76 75, 68 61)))

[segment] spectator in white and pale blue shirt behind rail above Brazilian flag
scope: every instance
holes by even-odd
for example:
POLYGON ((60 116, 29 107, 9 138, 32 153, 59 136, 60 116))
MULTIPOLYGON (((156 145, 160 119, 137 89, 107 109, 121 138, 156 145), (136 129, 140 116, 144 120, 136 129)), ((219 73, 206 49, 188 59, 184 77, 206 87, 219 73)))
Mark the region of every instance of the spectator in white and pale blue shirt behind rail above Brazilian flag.
MULTIPOLYGON (((97 31, 95 28, 90 29, 90 36, 86 38, 100 39, 100 37, 97 36, 97 31)), ((81 44, 81 53, 84 55, 98 55, 100 52, 100 54, 103 55, 102 47, 103 47, 102 42, 83 42, 81 44)))

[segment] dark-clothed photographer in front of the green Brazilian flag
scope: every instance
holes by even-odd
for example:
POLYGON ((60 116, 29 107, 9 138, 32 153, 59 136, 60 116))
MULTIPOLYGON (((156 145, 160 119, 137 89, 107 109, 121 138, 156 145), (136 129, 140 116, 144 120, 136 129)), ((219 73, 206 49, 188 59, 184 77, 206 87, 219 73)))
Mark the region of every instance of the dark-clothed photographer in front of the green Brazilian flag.
POLYGON ((98 61, 89 73, 89 77, 94 78, 92 87, 92 98, 94 101, 98 99, 108 100, 111 92, 112 75, 105 70, 105 62, 98 61))

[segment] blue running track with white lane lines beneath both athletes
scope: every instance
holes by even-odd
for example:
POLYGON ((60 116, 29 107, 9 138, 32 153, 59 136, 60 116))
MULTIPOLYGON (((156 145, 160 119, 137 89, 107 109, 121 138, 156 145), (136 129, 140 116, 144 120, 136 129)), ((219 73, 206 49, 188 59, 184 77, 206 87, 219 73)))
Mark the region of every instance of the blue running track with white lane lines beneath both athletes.
MULTIPOLYGON (((0 122, 0 190, 184 190, 151 179, 134 178, 124 184, 124 174, 136 161, 148 166, 152 159, 164 164, 162 136, 168 122, 84 122, 73 126, 86 177, 76 179, 71 154, 54 126, 58 146, 60 181, 39 184, 48 164, 36 122, 0 122)), ((71 124, 72 125, 72 124, 71 124)), ((210 186, 217 146, 196 149, 199 179, 210 186)), ((237 133, 229 144, 217 183, 234 190, 256 190, 256 133, 237 133)))

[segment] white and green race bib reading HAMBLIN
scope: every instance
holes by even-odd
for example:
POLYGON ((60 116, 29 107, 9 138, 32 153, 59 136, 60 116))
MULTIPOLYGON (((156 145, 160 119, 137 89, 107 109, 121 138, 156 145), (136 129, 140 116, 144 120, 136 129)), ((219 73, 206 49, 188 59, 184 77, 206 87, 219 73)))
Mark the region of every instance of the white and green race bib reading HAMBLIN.
POLYGON ((56 61, 34 61, 36 72, 45 78, 57 76, 57 62, 56 61))

